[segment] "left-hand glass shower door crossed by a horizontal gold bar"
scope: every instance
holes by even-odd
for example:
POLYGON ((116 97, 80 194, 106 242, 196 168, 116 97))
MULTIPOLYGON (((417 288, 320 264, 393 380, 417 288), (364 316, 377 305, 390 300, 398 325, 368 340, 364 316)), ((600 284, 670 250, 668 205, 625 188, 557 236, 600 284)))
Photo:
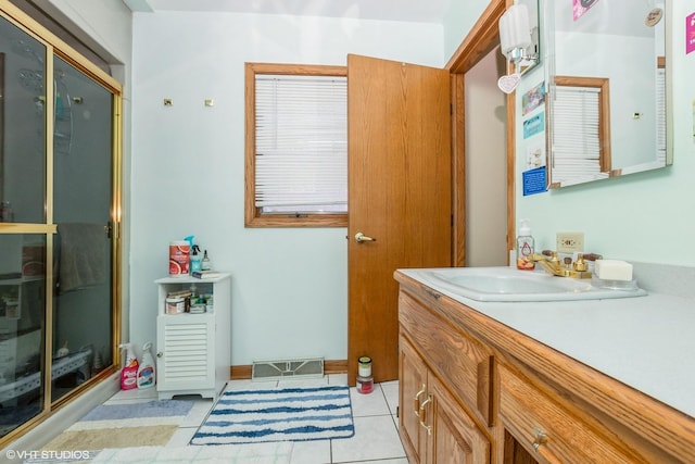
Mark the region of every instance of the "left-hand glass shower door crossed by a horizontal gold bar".
POLYGON ((0 17, 0 438, 46 411, 46 53, 0 17))

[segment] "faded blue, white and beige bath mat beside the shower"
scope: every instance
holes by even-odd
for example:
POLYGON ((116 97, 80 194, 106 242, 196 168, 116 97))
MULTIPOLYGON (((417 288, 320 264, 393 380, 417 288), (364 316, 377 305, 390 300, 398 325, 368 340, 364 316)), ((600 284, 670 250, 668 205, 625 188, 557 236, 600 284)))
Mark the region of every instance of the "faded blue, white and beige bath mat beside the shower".
POLYGON ((102 404, 43 447, 43 450, 103 450, 164 446, 188 415, 192 401, 102 404))

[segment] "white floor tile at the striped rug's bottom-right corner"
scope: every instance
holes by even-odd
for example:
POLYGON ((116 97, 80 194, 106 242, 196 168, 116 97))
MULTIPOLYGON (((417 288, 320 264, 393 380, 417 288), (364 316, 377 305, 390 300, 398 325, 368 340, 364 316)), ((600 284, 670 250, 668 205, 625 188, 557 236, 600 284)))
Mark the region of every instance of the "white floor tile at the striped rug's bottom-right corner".
POLYGON ((403 444, 390 415, 354 419, 354 437, 331 440, 333 463, 405 457, 403 444))

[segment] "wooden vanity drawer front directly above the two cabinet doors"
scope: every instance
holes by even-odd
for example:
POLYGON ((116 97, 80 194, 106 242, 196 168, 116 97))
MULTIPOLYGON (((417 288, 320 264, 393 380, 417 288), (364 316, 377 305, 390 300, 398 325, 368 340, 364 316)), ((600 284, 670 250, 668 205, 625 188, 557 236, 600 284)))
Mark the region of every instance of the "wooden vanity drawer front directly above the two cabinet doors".
POLYGON ((492 351, 403 291, 399 322, 414 346, 427 353, 430 369, 491 426, 492 351))

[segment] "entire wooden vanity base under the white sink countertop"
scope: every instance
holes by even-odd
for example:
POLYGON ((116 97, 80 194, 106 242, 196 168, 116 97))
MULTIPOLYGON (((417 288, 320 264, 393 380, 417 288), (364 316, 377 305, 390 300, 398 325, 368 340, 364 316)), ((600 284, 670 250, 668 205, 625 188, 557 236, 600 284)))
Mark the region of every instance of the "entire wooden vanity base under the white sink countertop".
POLYGON ((693 417, 395 277, 400 434, 410 462, 693 462, 693 417))

